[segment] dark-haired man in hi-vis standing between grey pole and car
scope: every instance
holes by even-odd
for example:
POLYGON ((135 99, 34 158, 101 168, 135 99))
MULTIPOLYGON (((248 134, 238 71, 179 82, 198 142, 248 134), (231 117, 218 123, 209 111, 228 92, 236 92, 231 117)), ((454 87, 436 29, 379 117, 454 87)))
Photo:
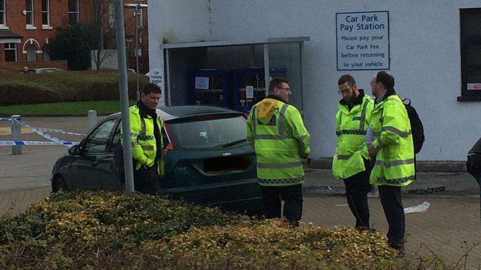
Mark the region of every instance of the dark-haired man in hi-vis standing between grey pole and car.
POLYGON ((129 108, 135 190, 152 195, 162 194, 159 177, 164 175, 162 157, 167 151, 163 121, 155 111, 161 95, 161 89, 149 83, 143 87, 140 100, 129 108))

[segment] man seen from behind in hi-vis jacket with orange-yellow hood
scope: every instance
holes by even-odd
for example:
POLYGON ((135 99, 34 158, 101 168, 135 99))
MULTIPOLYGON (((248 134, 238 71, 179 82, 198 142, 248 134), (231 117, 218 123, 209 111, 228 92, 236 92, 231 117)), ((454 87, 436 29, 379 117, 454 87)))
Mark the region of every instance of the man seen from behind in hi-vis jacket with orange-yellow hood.
POLYGON ((257 178, 264 215, 284 216, 297 224, 302 216, 302 158, 309 155, 309 132, 296 107, 289 105, 289 82, 273 78, 269 95, 255 104, 247 118, 247 141, 257 157, 257 178))

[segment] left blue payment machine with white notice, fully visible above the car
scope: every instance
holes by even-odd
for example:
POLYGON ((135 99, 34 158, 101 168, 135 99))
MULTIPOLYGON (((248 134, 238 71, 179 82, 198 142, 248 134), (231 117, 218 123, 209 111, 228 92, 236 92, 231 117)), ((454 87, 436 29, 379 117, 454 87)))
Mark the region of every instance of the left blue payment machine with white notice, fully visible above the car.
POLYGON ((189 72, 192 105, 227 107, 227 71, 197 69, 189 72))

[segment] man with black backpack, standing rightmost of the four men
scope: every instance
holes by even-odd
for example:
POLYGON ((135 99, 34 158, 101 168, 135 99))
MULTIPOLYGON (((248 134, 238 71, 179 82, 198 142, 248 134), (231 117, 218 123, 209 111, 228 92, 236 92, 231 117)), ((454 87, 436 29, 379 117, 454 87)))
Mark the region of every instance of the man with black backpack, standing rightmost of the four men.
POLYGON ((401 200, 401 187, 414 179, 414 147, 411 123, 401 98, 394 91, 394 77, 379 71, 371 80, 376 96, 371 114, 373 142, 368 150, 376 160, 370 182, 378 185, 379 198, 386 215, 391 247, 404 249, 406 221, 401 200))

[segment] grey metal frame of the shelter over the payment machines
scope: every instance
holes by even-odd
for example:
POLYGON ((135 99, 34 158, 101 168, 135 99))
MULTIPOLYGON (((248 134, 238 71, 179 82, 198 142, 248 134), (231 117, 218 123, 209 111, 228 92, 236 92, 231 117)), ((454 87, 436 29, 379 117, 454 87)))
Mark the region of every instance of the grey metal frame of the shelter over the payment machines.
POLYGON ((182 48, 207 48, 207 47, 231 47, 231 46, 250 46, 250 45, 261 45, 264 48, 264 78, 266 78, 266 84, 270 81, 269 74, 269 44, 280 44, 280 43, 298 43, 301 48, 305 41, 309 41, 309 36, 297 36, 297 37, 268 37, 260 39, 241 39, 241 40, 216 40, 216 41, 199 41, 199 42, 183 42, 183 43, 166 43, 160 44, 160 49, 165 50, 166 56, 166 85, 167 85, 167 104, 171 103, 171 75, 170 75, 170 49, 182 49, 182 48))

